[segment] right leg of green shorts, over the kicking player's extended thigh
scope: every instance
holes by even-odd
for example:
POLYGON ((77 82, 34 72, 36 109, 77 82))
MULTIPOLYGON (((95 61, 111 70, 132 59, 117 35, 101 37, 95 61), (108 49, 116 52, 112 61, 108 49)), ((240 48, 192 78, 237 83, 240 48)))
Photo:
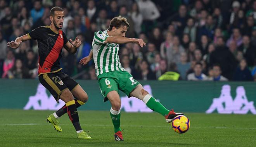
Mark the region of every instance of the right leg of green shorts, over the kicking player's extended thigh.
POLYGON ((130 93, 135 90, 135 88, 140 84, 136 79, 133 79, 133 76, 127 71, 119 74, 119 89, 123 91, 128 97, 130 93))

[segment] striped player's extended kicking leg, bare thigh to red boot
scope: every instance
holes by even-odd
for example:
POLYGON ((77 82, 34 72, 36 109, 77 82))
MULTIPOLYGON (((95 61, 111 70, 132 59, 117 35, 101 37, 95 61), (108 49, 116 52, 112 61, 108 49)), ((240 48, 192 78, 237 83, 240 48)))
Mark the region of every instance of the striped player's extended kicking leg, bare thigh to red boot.
POLYGON ((151 110, 160 113, 166 118, 166 122, 170 123, 177 115, 183 115, 182 113, 175 113, 173 110, 166 109, 159 101, 153 98, 141 84, 139 84, 131 93, 130 96, 134 96, 142 100, 151 110))

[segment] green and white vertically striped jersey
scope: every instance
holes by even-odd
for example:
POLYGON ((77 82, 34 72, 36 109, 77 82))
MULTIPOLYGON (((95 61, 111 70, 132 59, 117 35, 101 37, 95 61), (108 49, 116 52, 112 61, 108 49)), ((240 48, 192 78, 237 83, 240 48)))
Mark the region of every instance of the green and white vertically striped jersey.
POLYGON ((108 36, 107 30, 94 33, 92 52, 97 76, 109 71, 125 71, 118 56, 119 44, 105 43, 108 36))

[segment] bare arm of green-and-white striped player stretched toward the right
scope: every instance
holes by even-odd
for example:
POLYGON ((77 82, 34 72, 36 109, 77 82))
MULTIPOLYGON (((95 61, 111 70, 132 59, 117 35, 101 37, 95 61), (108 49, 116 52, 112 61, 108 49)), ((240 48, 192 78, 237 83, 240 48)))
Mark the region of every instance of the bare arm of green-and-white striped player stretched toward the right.
POLYGON ((107 37, 105 43, 116 43, 116 44, 125 44, 125 43, 137 43, 140 47, 146 45, 146 43, 142 39, 137 38, 127 38, 127 37, 119 37, 119 36, 109 36, 107 37))

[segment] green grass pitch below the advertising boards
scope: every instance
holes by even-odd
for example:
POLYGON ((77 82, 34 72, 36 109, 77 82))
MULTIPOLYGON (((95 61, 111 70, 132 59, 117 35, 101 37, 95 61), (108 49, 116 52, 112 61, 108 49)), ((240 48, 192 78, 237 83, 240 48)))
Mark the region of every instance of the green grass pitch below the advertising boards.
POLYGON ((157 113, 122 112, 125 142, 115 142, 107 111, 79 111, 91 140, 76 139, 66 114, 55 131, 45 119, 52 112, 0 109, 0 147, 256 147, 255 115, 185 113, 191 128, 178 134, 157 113))

